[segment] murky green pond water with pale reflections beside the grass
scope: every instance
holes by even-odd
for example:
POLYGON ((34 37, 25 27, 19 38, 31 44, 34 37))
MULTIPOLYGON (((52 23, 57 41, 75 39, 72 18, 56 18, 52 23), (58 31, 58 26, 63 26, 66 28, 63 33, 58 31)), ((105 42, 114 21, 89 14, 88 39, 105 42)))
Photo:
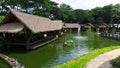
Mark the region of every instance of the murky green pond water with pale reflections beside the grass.
POLYGON ((75 37, 75 35, 77 33, 66 33, 56 41, 35 50, 26 51, 9 48, 2 51, 2 53, 16 58, 26 68, 50 68, 51 66, 63 64, 98 48, 120 45, 119 41, 106 39, 96 34, 89 33, 87 35, 83 33, 82 36, 87 36, 87 40, 86 38, 75 37), (64 45, 67 39, 72 39, 74 41, 73 44, 64 45))

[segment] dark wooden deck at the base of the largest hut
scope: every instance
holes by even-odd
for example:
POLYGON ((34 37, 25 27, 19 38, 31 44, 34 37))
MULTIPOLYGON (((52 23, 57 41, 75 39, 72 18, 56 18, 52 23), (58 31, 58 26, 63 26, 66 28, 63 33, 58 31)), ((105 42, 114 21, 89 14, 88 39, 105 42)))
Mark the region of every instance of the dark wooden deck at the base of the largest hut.
POLYGON ((38 47, 44 46, 45 44, 48 44, 54 40, 56 40, 57 37, 55 36, 50 36, 47 38, 43 38, 43 39, 39 39, 39 40, 34 40, 31 41, 30 43, 21 43, 21 42, 7 42, 6 45, 10 45, 10 46, 24 46, 26 47, 26 49, 36 49, 38 47))

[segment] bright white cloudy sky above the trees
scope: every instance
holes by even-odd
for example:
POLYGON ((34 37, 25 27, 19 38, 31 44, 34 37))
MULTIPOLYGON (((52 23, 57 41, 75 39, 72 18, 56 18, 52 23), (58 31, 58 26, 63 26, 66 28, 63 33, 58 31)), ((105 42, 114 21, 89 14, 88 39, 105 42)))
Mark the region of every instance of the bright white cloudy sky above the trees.
POLYGON ((109 4, 120 3, 120 0, 51 0, 59 4, 65 3, 70 5, 73 9, 92 9, 95 7, 103 7, 109 4))

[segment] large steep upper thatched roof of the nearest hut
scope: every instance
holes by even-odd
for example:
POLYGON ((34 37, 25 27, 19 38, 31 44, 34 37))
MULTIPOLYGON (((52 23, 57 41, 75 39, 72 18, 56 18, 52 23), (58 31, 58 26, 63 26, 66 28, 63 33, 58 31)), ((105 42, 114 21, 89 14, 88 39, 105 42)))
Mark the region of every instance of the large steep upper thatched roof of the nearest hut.
POLYGON ((2 23, 10 23, 11 20, 18 21, 24 24, 25 27, 27 27, 29 30, 31 30, 33 33, 38 32, 47 32, 47 31, 54 31, 54 30, 60 30, 62 29, 62 26, 58 26, 62 22, 58 21, 59 23, 54 23, 48 18, 30 15, 22 12, 17 11, 10 11, 5 19, 2 21, 2 23), (14 19, 13 19, 14 18, 14 19))

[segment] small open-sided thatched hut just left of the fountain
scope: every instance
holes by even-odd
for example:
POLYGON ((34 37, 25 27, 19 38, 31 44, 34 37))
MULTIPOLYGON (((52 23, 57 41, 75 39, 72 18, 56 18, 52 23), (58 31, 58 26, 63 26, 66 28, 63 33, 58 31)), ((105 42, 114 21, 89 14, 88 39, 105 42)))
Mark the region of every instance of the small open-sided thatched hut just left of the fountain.
POLYGON ((78 23, 65 23, 65 27, 64 28, 67 31, 69 31, 69 30, 77 31, 79 27, 80 27, 80 25, 78 23))

